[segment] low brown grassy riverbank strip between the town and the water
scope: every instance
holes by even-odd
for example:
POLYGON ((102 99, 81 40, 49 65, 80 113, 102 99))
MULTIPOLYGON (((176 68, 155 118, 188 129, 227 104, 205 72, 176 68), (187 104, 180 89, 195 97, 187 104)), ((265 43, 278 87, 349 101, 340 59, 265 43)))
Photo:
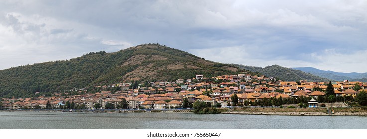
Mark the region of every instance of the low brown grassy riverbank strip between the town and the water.
MULTIPOLYGON (((245 115, 361 115, 367 116, 364 108, 218 108, 222 114, 245 114, 245 115)), ((65 112, 63 110, 1 110, 4 112, 65 112)), ((1 112, 0 111, 0 112, 1 112)), ((193 109, 174 110, 74 110, 73 113, 193 113, 193 109)))

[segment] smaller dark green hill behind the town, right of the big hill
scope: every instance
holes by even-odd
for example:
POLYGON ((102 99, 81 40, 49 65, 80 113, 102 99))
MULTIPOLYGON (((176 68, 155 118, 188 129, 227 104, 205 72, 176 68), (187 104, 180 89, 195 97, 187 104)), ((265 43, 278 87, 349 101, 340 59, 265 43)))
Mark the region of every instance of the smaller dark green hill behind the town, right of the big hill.
POLYGON ((272 65, 262 67, 253 67, 253 66, 245 66, 245 65, 237 65, 241 69, 249 70, 251 72, 256 72, 263 74, 269 77, 277 77, 284 81, 300 81, 300 80, 307 80, 307 81, 329 81, 329 79, 321 78, 319 76, 312 75, 310 73, 305 73, 300 70, 294 70, 291 68, 282 67, 279 65, 272 65))

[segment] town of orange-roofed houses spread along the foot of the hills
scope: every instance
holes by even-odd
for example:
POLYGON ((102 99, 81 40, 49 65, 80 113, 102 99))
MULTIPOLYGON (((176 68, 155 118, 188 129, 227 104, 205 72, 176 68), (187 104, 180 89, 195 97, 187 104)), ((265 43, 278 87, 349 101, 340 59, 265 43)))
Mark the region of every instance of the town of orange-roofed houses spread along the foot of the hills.
MULTIPOLYGON (((274 77, 249 74, 223 75, 206 78, 196 75, 191 79, 174 82, 156 81, 123 82, 95 86, 96 93, 79 89, 53 93, 34 98, 3 98, 2 109, 182 109, 192 108, 196 101, 213 107, 276 106, 304 103, 300 107, 325 107, 314 105, 323 102, 355 102, 359 92, 366 93, 367 83, 308 82, 306 80, 282 81, 274 77), (331 83, 331 84, 329 84, 331 83), (328 86, 334 91, 328 97, 328 86), (236 100, 235 100, 236 99, 236 100), (269 102, 272 100, 271 102, 269 102), (275 100, 275 101, 274 101, 275 100), (316 102, 317 100, 317 102, 316 102), (308 106, 307 103, 309 103, 308 106)), ((36 94, 39 92, 35 92, 36 94)))

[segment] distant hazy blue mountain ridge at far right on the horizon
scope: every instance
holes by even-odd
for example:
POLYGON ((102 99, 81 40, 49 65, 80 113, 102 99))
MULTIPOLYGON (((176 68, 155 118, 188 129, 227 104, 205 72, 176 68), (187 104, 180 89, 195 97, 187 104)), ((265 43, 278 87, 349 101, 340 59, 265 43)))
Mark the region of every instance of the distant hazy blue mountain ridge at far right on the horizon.
POLYGON ((351 80, 351 81, 367 81, 367 73, 341 73, 334 71, 319 70, 313 67, 296 67, 295 70, 301 70, 323 78, 328 78, 335 81, 351 80))

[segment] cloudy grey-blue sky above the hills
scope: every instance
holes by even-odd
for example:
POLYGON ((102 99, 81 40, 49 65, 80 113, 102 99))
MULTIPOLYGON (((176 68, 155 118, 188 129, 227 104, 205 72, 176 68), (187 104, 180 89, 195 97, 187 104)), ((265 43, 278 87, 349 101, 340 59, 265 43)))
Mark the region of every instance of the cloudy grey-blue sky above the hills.
POLYGON ((144 43, 222 63, 367 72, 367 0, 0 0, 0 70, 144 43))

